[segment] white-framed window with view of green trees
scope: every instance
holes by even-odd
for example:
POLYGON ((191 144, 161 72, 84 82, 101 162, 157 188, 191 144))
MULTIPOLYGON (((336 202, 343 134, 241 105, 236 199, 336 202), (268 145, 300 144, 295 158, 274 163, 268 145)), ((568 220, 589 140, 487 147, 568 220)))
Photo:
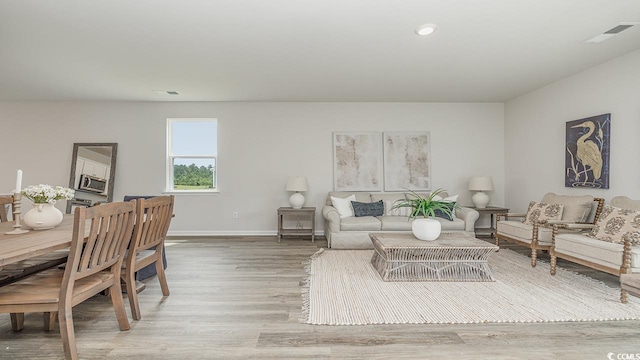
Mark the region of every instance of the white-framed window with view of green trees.
POLYGON ((167 191, 217 191, 218 121, 167 120, 167 191))

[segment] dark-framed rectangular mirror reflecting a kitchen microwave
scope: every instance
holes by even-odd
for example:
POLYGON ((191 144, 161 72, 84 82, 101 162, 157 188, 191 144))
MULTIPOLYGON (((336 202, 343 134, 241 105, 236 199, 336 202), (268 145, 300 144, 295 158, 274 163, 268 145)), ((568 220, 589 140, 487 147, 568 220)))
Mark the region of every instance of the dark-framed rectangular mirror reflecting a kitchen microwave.
POLYGON ((113 201, 117 143, 74 143, 69 187, 75 190, 67 201, 67 214, 78 206, 113 201))

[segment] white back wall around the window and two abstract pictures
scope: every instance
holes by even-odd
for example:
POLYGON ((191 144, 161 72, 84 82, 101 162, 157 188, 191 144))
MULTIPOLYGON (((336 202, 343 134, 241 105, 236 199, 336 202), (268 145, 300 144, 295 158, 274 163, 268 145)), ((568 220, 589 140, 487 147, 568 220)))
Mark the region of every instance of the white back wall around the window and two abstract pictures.
MULTIPOLYGON (((288 206, 284 187, 292 175, 308 177, 306 205, 317 207, 322 229, 334 131, 430 131, 433 186, 470 204, 469 176, 490 175, 491 203, 502 205, 503 115, 495 103, 5 102, 0 132, 11 136, 3 140, 0 193, 13 189, 18 168, 24 186, 66 186, 74 142, 116 142, 114 199, 160 194, 166 119, 214 117, 220 194, 177 196, 171 234, 275 234, 276 208, 288 206)), ((30 204, 23 204, 26 211, 30 204)))

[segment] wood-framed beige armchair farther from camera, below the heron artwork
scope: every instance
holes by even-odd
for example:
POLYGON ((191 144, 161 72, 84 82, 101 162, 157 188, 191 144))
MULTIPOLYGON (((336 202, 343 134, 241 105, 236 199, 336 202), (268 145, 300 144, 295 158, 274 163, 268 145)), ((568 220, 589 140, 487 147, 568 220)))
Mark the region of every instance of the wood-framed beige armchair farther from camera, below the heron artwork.
POLYGON ((532 201, 527 213, 497 214, 496 245, 500 246, 502 240, 531 249, 531 266, 535 267, 538 251, 551 249, 552 224, 593 224, 602 211, 603 203, 604 199, 591 195, 548 193, 542 201, 532 201))

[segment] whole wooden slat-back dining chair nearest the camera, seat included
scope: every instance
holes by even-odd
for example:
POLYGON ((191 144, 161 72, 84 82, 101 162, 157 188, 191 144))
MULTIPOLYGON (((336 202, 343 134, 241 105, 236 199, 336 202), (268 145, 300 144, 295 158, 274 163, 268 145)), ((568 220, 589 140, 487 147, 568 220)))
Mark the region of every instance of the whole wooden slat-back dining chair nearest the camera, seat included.
MULTIPOLYGON (((65 358, 77 359, 72 309, 109 290, 120 330, 128 330, 120 271, 131 240, 135 210, 135 201, 76 208, 64 271, 52 269, 0 287, 0 313, 57 312, 65 358)), ((14 321, 22 318, 12 317, 12 325, 14 321)))

